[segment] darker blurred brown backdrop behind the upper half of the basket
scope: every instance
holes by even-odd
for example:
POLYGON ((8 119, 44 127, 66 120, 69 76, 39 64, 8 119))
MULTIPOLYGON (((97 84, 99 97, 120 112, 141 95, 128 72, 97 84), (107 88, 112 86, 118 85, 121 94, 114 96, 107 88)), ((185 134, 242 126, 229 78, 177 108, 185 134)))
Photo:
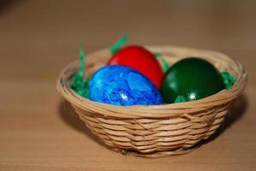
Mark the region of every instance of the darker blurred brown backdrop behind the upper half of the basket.
POLYGON ((256 1, 0 0, 0 77, 55 81, 80 44, 88 53, 123 34, 134 44, 219 50, 250 73, 256 1))

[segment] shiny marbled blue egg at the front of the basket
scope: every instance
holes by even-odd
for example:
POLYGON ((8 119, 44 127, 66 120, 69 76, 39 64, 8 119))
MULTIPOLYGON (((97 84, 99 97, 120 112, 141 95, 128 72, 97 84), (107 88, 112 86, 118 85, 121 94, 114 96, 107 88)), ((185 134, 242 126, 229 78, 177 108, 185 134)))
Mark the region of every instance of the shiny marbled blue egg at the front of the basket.
POLYGON ((162 104, 158 88, 134 68, 109 65, 92 75, 89 97, 119 106, 162 104))

